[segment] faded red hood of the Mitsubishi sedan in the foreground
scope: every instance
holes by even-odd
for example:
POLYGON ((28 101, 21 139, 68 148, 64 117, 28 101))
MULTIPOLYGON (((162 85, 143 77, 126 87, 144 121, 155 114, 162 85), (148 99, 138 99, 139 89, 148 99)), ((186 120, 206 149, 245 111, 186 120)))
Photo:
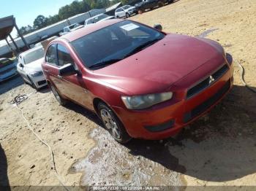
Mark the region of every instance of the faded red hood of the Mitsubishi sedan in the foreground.
POLYGON ((222 53, 223 48, 217 42, 167 34, 135 55, 95 70, 94 75, 128 94, 157 93, 167 90, 200 66, 210 64, 211 60, 219 67, 223 63, 222 53))

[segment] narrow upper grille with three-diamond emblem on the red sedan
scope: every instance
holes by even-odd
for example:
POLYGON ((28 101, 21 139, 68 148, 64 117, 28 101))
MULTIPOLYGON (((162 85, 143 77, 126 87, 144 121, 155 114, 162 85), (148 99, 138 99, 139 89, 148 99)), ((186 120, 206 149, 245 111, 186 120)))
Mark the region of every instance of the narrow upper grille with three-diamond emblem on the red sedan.
POLYGON ((191 98, 192 96, 196 95, 197 93, 200 93, 202 90, 206 89, 206 87, 210 86, 213 84, 214 81, 222 77, 223 74, 226 73, 228 70, 227 64, 222 66, 220 69, 214 72, 214 74, 211 74, 211 76, 207 77, 204 79, 202 82, 198 83, 194 87, 191 87, 187 91, 187 98, 191 98))

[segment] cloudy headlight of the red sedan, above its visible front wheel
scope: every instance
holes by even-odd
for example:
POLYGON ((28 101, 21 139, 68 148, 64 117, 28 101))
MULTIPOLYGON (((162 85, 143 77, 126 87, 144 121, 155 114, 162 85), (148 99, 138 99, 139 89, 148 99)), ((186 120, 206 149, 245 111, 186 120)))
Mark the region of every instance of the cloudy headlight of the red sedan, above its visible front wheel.
POLYGON ((127 106, 128 109, 146 109, 155 104, 167 101, 172 97, 173 93, 167 92, 138 96, 121 96, 121 99, 124 101, 124 105, 127 106))

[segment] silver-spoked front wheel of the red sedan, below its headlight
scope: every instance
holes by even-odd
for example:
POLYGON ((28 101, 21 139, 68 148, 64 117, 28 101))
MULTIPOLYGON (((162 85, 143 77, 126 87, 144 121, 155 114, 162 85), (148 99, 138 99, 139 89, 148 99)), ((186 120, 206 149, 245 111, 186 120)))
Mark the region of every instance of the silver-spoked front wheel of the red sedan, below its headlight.
POLYGON ((106 104, 99 102, 97 110, 105 129, 108 130, 113 139, 121 144, 125 144, 132 139, 128 135, 127 130, 124 128, 122 122, 106 104))

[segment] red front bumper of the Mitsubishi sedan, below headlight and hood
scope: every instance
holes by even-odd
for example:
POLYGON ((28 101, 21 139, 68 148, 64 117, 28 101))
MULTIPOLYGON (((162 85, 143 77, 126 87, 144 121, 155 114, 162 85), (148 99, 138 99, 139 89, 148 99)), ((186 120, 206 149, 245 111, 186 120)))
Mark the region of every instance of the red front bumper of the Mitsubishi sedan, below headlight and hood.
POLYGON ((127 133, 139 139, 165 139, 202 116, 219 103, 233 86, 233 64, 211 86, 192 98, 173 98, 146 110, 113 107, 127 133))

